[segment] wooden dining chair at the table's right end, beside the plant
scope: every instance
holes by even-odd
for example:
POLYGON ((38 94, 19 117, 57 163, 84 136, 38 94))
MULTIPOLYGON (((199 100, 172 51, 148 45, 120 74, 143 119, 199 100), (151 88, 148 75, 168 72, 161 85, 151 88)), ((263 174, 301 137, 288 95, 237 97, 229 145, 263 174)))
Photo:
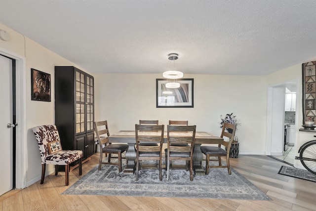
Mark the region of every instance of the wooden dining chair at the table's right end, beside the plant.
POLYGON ((229 140, 225 140, 224 138, 218 146, 201 146, 201 151, 206 156, 206 174, 208 174, 209 168, 227 168, 228 174, 231 174, 229 153, 234 140, 235 130, 236 124, 224 123, 221 138, 227 137, 229 140), (227 129, 231 129, 232 132, 230 133, 226 131, 227 129), (222 145, 225 146, 226 149, 223 149, 222 145), (217 159, 210 159, 211 157, 215 157, 217 159), (222 166, 221 157, 226 157, 226 166, 222 166), (218 166, 209 166, 210 161, 218 161, 218 166))

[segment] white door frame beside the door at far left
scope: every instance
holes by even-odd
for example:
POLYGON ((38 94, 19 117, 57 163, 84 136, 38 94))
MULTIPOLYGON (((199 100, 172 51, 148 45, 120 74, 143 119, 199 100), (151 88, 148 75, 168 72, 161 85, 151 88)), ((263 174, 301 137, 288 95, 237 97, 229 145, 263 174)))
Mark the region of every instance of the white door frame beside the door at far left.
POLYGON ((26 59, 0 48, 0 54, 15 59, 16 64, 16 168, 15 189, 26 187, 26 59))

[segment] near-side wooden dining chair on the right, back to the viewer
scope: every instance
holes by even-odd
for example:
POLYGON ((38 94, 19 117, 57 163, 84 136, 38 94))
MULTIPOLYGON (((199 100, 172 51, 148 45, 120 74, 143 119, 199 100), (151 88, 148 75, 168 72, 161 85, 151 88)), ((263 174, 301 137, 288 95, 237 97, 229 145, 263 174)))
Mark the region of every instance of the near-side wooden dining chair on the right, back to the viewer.
POLYGON ((190 165, 190 180, 193 181, 193 150, 196 137, 196 126, 167 126, 167 180, 171 160, 186 161, 186 170, 190 165), (177 145, 173 145, 177 144, 177 145), (186 144, 188 146, 186 146, 186 144))

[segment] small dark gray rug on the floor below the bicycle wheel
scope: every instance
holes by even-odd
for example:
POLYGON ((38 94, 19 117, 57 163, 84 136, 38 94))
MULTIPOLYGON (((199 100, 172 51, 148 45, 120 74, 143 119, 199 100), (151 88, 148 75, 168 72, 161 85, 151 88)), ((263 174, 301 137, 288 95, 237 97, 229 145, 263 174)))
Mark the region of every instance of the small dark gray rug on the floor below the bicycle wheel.
POLYGON ((281 169, 278 171, 278 174, 316 182, 316 174, 304 169, 296 169, 293 167, 282 166, 281 169))

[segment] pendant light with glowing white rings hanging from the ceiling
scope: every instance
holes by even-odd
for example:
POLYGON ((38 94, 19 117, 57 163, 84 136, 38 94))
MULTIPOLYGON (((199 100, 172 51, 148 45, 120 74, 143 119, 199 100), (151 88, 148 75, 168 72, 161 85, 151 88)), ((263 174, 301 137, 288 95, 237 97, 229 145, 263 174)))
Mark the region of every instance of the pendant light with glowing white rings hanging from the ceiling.
POLYGON ((173 79, 173 82, 166 83, 167 88, 179 88, 180 83, 176 81, 176 79, 181 79, 183 77, 183 73, 180 71, 177 71, 176 67, 176 60, 179 58, 177 53, 170 53, 168 55, 168 59, 170 61, 173 61, 173 67, 172 70, 168 70, 162 74, 163 78, 166 79, 173 79))

